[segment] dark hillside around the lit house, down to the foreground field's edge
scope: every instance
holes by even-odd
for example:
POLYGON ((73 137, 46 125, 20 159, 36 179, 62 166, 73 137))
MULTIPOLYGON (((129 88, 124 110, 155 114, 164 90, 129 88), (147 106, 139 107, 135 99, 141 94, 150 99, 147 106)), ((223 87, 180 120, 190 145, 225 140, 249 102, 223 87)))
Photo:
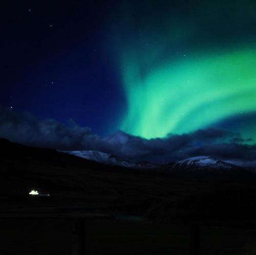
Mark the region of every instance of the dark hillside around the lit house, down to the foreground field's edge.
POLYGON ((106 166, 3 139, 0 147, 2 215, 82 214, 89 210, 175 222, 256 219, 253 174, 250 178, 235 179, 229 179, 228 175, 222 179, 185 178, 164 171, 106 166), (52 196, 31 197, 28 195, 31 189, 52 196))

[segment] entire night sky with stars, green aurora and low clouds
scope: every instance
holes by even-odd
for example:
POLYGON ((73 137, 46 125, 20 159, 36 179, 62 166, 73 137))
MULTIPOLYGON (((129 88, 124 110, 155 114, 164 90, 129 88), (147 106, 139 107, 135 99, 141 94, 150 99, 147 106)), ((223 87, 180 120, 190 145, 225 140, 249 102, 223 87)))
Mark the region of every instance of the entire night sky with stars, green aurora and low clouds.
POLYGON ((143 160, 256 155, 255 1, 14 1, 1 34, 2 137, 143 160))

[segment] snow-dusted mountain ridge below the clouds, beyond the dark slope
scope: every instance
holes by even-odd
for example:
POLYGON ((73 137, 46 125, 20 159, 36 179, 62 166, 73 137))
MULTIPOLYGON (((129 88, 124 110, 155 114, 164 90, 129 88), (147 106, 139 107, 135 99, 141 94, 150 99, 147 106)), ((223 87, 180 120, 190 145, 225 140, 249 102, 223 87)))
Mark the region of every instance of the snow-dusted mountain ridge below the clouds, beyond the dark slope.
MULTIPOLYGON (((62 151, 63 152, 63 151, 62 151)), ((244 176, 248 171, 243 168, 218 160, 209 156, 190 157, 177 163, 131 163, 118 159, 110 153, 100 151, 65 151, 71 155, 96 161, 105 165, 119 166, 131 169, 151 170, 156 172, 172 173, 177 176, 190 177, 229 177, 244 176)))

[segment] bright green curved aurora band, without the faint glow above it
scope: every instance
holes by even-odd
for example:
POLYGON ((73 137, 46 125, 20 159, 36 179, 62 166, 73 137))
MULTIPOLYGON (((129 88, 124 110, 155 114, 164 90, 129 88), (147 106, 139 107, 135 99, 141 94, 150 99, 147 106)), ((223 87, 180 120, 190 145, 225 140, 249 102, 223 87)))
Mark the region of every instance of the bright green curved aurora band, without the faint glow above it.
MULTIPOLYGON (((139 54, 137 54, 139 55, 139 54)), ((205 51, 164 61, 141 72, 133 52, 121 57, 127 114, 121 129, 144 138, 206 128, 226 118, 256 111, 256 50, 205 51)), ((154 59, 154 58, 153 58, 154 59)), ((148 55, 148 62, 152 62, 148 55)), ((248 137, 256 137, 254 125, 248 137)))

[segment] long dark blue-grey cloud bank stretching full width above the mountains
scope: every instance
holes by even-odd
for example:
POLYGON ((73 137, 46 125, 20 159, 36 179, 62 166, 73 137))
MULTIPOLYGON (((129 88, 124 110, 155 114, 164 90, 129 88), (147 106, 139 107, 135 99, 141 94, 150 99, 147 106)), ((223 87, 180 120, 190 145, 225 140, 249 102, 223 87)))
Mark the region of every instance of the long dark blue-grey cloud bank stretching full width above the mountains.
POLYGON ((88 127, 79 127, 73 120, 65 126, 55 120, 38 120, 30 113, 17 114, 3 107, 0 107, 0 137, 58 150, 99 150, 131 161, 164 162, 200 155, 226 160, 256 159, 256 144, 227 130, 197 130, 151 140, 122 131, 100 137, 88 127))

